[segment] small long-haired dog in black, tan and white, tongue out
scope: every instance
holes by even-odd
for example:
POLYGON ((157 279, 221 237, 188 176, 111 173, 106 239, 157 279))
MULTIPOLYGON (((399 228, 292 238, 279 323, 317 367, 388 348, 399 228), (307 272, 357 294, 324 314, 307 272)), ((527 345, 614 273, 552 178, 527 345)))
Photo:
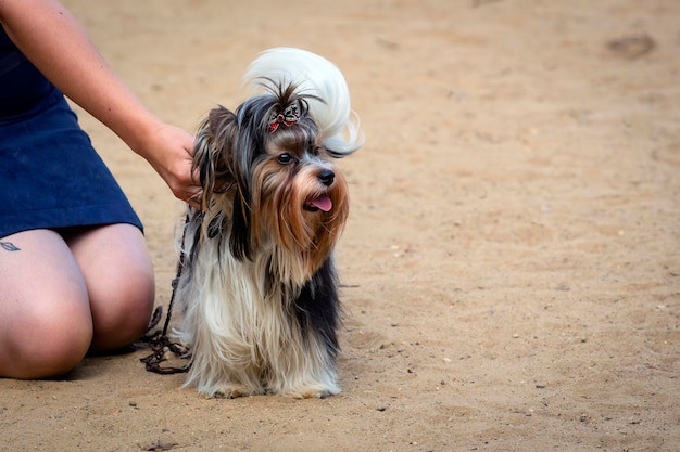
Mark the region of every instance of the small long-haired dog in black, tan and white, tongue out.
POLYGON ((244 81, 264 92, 210 112, 197 133, 202 208, 189 207, 177 337, 185 386, 209 397, 340 392, 333 247, 349 212, 332 158, 363 144, 340 70, 292 48, 263 52, 244 81))

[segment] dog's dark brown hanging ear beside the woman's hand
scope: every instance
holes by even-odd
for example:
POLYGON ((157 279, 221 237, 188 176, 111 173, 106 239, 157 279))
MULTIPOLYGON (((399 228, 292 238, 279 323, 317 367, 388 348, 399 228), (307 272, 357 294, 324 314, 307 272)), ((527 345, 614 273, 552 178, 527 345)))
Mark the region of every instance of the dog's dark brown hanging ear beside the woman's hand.
POLYGON ((215 193, 228 190, 234 182, 229 160, 237 138, 236 115, 223 106, 213 108, 199 126, 193 167, 199 169, 204 207, 215 193))

